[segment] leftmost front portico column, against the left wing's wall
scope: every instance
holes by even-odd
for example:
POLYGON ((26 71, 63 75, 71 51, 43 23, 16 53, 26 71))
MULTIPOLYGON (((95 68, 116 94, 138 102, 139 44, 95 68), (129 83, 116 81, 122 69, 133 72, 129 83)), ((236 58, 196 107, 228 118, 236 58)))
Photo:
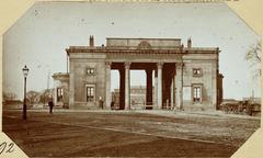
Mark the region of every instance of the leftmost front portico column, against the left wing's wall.
POLYGON ((112 92, 111 92, 111 65, 112 63, 106 61, 105 67, 105 82, 106 82, 106 93, 105 93, 105 108, 111 109, 111 102, 112 102, 112 92))

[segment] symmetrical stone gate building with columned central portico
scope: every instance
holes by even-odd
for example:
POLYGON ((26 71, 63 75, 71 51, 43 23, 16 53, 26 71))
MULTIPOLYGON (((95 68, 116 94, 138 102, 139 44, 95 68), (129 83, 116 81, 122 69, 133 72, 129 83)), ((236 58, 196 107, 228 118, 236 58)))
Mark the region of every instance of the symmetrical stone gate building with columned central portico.
POLYGON ((90 36, 89 46, 66 52, 69 75, 56 74, 54 79, 68 77, 68 95, 56 86, 55 98, 68 98, 69 109, 111 109, 111 70, 119 72, 121 110, 130 109, 130 70, 146 72, 146 109, 216 110, 222 99, 219 48, 192 47, 191 38, 184 46, 180 38, 108 37, 105 46, 94 46, 90 36))

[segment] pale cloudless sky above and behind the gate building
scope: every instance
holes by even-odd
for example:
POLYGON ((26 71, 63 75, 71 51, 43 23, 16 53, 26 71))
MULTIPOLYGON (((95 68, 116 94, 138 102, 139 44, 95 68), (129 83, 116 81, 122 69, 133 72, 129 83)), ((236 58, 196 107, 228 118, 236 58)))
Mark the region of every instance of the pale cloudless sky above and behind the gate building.
MULTIPOLYGON (((48 71, 66 72, 69 46, 95 45, 106 37, 192 38, 194 47, 219 47, 224 97, 242 99, 259 80, 244 54, 260 37, 225 3, 37 2, 3 35, 3 91, 23 97, 22 68, 30 68, 27 90, 47 88, 48 71)), ((132 84, 146 84, 144 71, 132 71, 132 84)), ((112 71, 112 89, 118 76, 112 71)), ((49 79, 49 88, 53 78, 49 79)))

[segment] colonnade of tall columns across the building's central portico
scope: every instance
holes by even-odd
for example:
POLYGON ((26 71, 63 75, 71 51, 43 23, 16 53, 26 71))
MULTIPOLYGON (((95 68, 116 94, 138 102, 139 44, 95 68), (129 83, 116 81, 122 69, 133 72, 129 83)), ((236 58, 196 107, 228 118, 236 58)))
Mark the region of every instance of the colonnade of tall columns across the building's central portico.
MULTIPOLYGON (((111 108, 111 65, 105 63, 105 105, 111 108)), ((136 63, 134 64, 136 65, 136 63)), ((130 66, 124 63, 118 67, 119 72, 119 109, 130 109, 130 66)), ((146 109, 182 108, 183 65, 156 63, 146 71, 146 109), (155 71, 155 97, 152 95, 152 74, 155 71), (155 100, 153 100, 155 99, 155 100)))

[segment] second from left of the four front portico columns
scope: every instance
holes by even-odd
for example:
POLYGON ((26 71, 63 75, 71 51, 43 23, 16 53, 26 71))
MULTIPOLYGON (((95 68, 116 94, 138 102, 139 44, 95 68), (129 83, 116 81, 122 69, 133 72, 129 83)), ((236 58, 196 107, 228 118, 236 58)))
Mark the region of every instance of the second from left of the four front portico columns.
POLYGON ((130 63, 125 63, 125 110, 129 110, 129 66, 130 63))

